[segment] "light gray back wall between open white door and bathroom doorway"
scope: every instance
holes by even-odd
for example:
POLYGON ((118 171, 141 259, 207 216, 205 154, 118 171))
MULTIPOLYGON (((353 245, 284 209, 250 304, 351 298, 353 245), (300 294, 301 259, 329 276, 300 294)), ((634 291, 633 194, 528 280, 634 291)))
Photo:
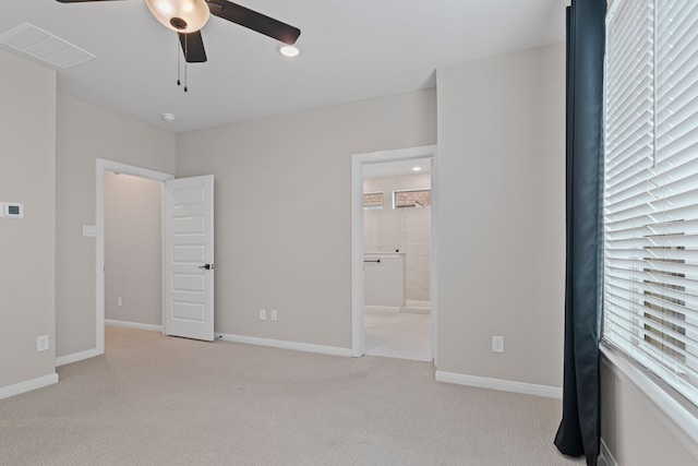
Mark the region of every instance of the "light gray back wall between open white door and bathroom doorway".
POLYGON ((435 104, 432 88, 178 136, 177 176, 216 177, 217 332, 351 346, 351 155, 433 144, 435 104))

